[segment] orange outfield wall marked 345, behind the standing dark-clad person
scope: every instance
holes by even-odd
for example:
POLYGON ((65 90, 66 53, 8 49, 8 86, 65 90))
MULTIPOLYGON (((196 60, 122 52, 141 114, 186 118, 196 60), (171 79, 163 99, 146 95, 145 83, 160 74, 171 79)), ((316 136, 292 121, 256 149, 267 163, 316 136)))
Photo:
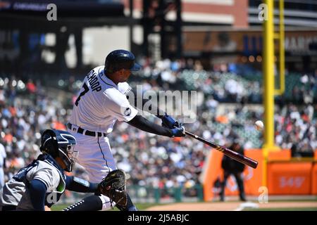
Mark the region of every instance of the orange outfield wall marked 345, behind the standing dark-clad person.
MULTIPOLYGON (((317 151, 316 151, 317 152, 317 151)), ((263 176, 263 155, 261 149, 244 150, 247 157, 259 162, 256 169, 244 169, 244 190, 247 195, 260 195, 263 176)), ((317 163, 292 160, 290 150, 271 152, 267 165, 267 188, 269 195, 310 195, 317 194, 317 163)), ((204 172, 204 200, 218 200, 220 182, 223 181, 221 160, 223 154, 211 150, 204 172)), ((234 176, 230 176, 225 187, 225 195, 237 195, 238 188, 234 176)))

